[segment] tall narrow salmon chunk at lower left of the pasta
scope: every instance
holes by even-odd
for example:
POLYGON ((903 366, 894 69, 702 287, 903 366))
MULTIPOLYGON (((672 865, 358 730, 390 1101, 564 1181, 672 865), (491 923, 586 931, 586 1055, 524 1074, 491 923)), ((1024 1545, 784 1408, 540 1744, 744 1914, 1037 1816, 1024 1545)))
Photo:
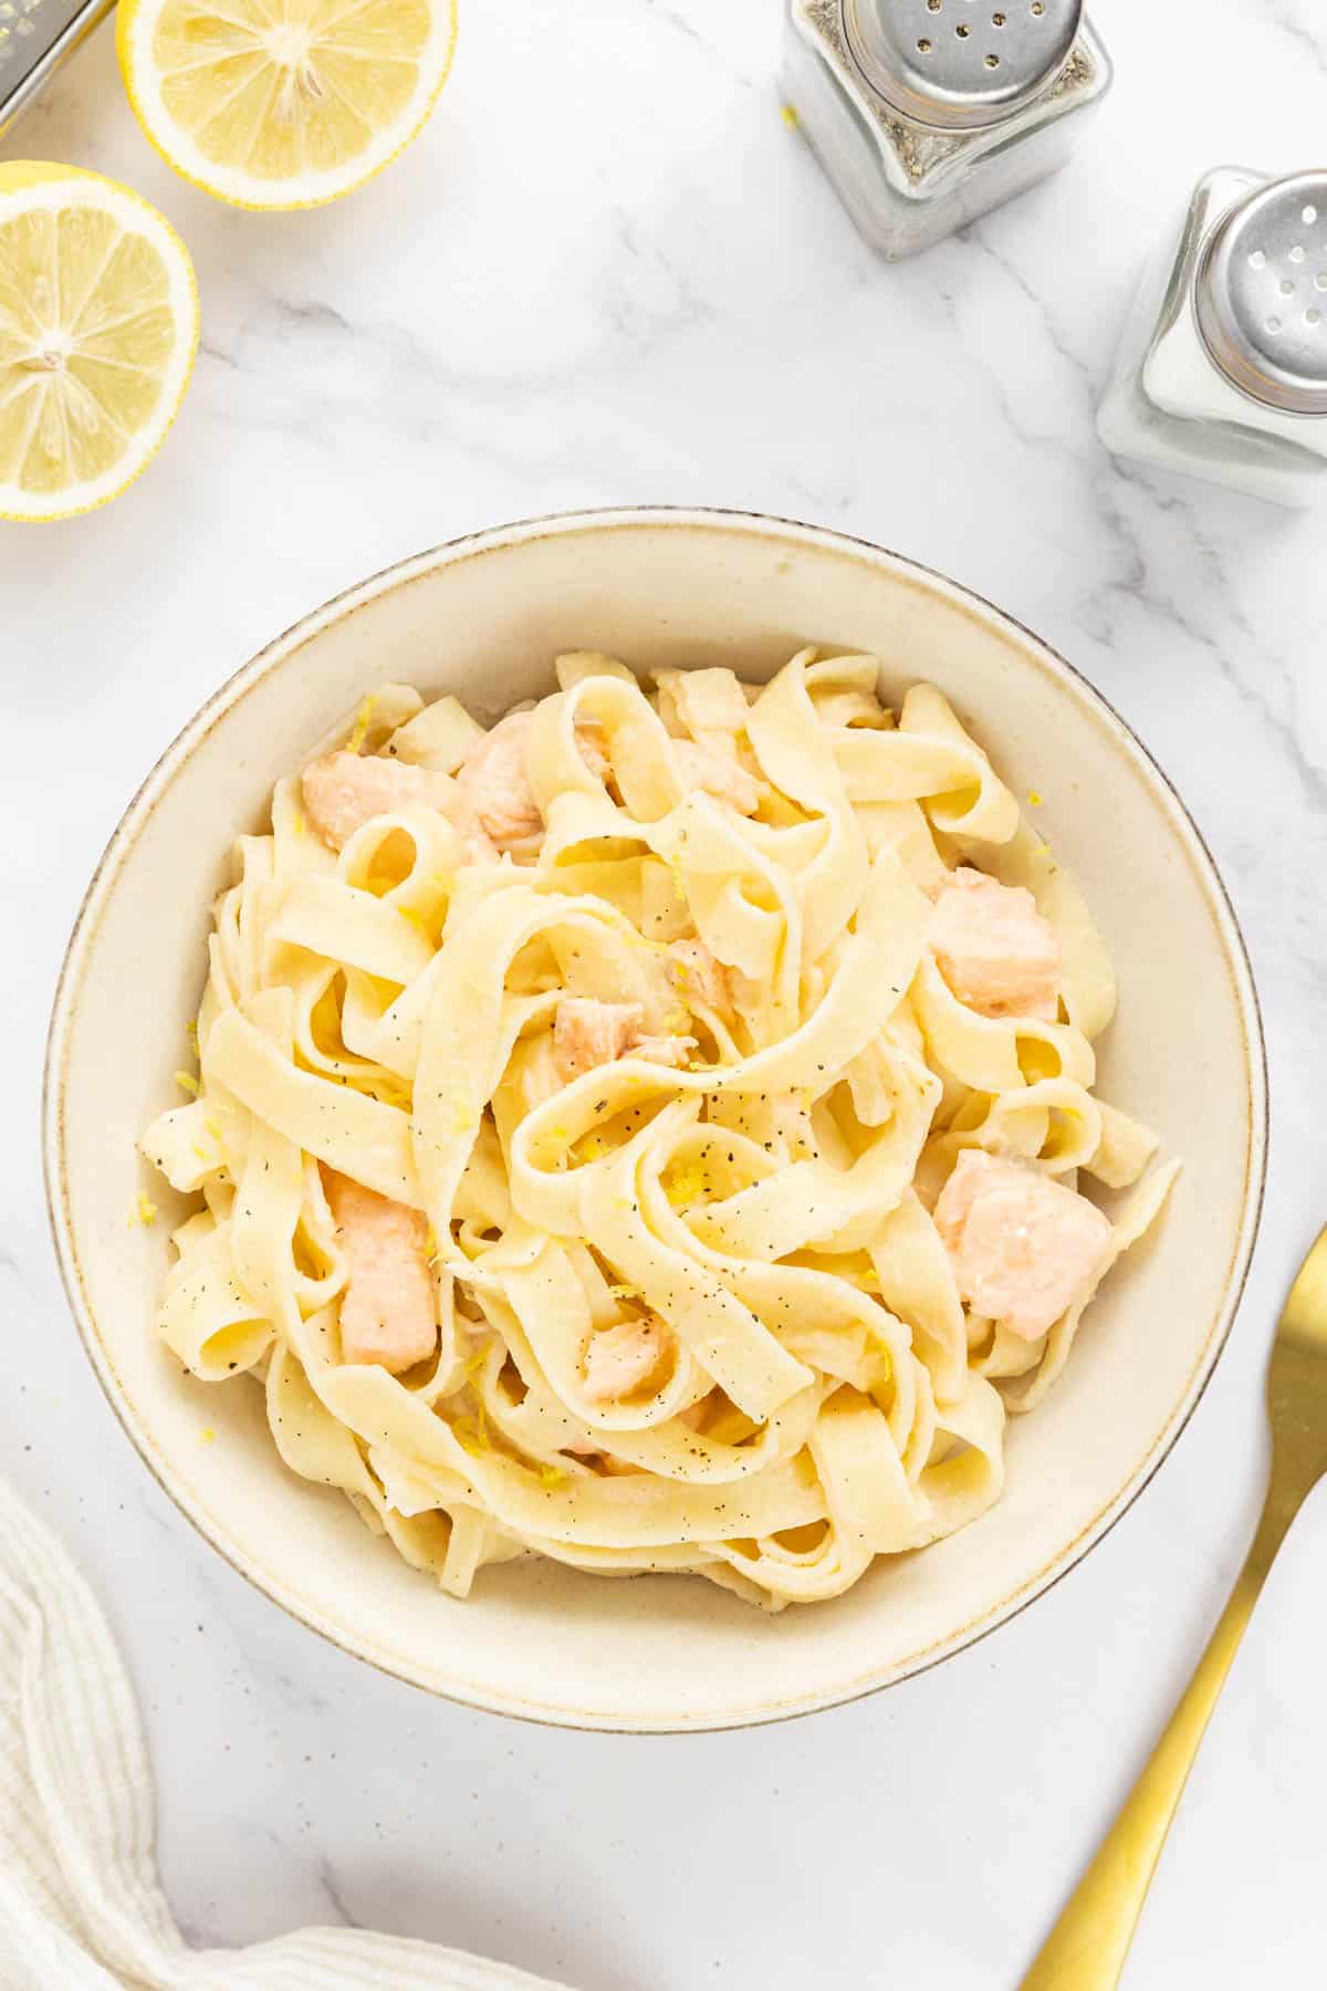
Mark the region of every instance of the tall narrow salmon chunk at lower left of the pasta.
POLYGON ((438 1346, 424 1213, 330 1171, 326 1201, 346 1254, 342 1362, 378 1362, 400 1376, 438 1346))

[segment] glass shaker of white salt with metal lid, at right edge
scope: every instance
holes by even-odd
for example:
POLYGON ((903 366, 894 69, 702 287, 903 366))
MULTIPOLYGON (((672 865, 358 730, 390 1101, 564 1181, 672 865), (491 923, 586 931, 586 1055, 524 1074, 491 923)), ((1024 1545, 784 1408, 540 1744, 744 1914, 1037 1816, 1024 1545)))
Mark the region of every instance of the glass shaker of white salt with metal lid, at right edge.
POLYGON ((1096 428, 1116 456, 1327 496, 1327 171, 1218 167, 1158 245, 1096 428))

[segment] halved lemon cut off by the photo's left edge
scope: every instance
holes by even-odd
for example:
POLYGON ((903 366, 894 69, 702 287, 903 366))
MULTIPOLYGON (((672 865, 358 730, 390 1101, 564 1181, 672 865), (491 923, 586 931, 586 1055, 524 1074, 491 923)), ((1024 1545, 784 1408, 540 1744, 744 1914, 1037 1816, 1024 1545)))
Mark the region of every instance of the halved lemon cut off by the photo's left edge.
POLYGON ((119 496, 197 344, 193 263, 155 207, 74 165, 0 165, 0 518, 119 496))

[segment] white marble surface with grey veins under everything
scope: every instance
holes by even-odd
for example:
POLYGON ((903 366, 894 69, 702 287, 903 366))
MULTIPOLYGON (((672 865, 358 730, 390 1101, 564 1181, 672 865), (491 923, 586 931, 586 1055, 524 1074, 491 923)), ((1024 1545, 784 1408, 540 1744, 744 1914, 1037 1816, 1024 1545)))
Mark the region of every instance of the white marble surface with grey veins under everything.
MULTIPOLYGON (((137 185, 203 287, 195 386, 147 478, 86 522, 0 536, 0 1459, 123 1637, 197 1939, 350 1919, 583 1991, 1001 1991, 1198 1655, 1259 1497, 1271 1320, 1327 1205, 1327 563, 1321 526, 1114 468, 1090 414, 1144 247, 1198 173, 1321 159, 1327 24, 1317 0, 1100 0, 1098 24, 1120 78, 1074 167, 893 269, 780 119, 772 0, 472 0, 432 129, 316 215, 227 213, 177 183, 107 34, 0 147, 137 185), (436 1704, 247 1589, 90 1378, 36 1159, 80 892, 199 699, 402 553, 633 500, 881 540, 1088 671, 1226 870, 1275 1119, 1232 1346, 1088 1563, 881 1698, 664 1742, 436 1704)), ((1130 1991, 1321 1973, 1325 1575, 1321 1505, 1237 1662, 1130 1991)))

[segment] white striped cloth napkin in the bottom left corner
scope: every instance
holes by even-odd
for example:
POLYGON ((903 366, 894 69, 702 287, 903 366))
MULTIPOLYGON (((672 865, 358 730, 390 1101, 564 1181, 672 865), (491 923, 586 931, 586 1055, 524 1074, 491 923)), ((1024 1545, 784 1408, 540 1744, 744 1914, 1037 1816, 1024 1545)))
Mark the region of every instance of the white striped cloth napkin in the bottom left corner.
POLYGON ((456 1949, 298 1929, 189 1949, 133 1688, 56 1537, 0 1483, 0 1991, 559 1991, 456 1949))

